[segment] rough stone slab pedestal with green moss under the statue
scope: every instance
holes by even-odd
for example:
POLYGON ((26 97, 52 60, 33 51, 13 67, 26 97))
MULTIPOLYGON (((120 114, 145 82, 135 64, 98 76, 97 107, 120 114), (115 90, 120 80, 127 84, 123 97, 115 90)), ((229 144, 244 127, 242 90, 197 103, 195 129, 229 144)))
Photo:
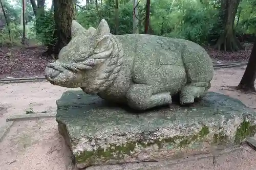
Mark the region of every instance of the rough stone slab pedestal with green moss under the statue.
POLYGON ((207 154, 256 132, 252 109, 215 92, 193 106, 173 104, 140 113, 67 91, 57 101, 56 120, 78 168, 207 154))

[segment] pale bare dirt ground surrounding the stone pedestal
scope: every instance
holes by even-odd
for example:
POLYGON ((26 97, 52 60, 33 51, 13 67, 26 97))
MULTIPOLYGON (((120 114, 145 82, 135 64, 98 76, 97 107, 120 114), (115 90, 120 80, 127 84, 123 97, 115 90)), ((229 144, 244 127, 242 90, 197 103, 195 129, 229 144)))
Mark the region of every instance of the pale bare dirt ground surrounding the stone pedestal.
MULTIPOLYGON (((238 85, 244 70, 245 67, 216 70, 210 91, 227 94, 256 109, 256 94, 243 93, 232 88, 232 86, 238 85)), ((6 125, 6 118, 15 114, 26 114, 28 109, 34 112, 54 112, 56 100, 63 92, 70 90, 53 86, 49 82, 0 84, 0 89, 0 128, 6 125)), ((243 158, 240 159, 241 155, 226 157, 227 162, 220 160, 218 168, 215 168, 220 170, 240 170, 241 167, 253 169, 256 166, 253 159, 256 156, 255 153, 254 151, 246 153, 241 151, 243 158), (220 162, 222 163, 220 164, 220 162)), ((204 169, 203 167, 198 166, 198 169, 204 169)), ((58 133, 55 119, 42 118, 14 122, 9 133, 0 141, 0 169, 71 169, 70 153, 58 133)))

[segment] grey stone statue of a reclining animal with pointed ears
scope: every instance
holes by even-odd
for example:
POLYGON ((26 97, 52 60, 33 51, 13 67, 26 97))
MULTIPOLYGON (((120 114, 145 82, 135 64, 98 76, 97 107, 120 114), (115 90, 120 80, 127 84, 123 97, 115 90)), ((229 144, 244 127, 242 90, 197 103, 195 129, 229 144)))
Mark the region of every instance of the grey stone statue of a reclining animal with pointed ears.
POLYGON ((46 78, 53 85, 80 87, 88 94, 146 110, 172 103, 192 104, 210 88, 214 68, 200 45, 156 35, 113 35, 102 19, 97 29, 72 22, 72 40, 46 78))

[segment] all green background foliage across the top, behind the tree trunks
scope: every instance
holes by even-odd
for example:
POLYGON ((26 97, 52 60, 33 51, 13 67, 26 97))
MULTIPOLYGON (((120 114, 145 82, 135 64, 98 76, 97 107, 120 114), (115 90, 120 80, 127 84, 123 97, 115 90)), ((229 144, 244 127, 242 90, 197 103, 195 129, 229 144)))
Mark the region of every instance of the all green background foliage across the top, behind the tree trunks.
MULTIPOLYGON (((11 40, 8 38, 8 30, 2 31, 1 42, 20 41, 22 26, 20 23, 21 1, 11 5, 3 0, 8 20, 11 22, 11 40), (8 40, 9 39, 9 40, 8 40)), ((54 42, 55 22, 53 13, 46 9, 40 17, 33 19, 33 10, 28 1, 26 10, 27 38, 37 39, 42 44, 51 45, 54 42), (34 27, 31 29, 31 25, 34 27)), ((139 0, 138 0, 139 1, 139 0)), ((77 7, 76 20, 84 28, 98 26, 104 18, 108 21, 110 30, 115 30, 115 1, 98 1, 98 5, 77 7)), ((138 7, 139 32, 144 32, 145 0, 141 0, 138 7)), ((152 0, 150 15, 150 34, 188 39, 199 44, 215 42, 222 33, 220 16, 220 0, 152 0)), ((79 4, 79 2, 78 2, 79 4)), ((256 34, 256 0, 243 0, 240 3, 234 28, 238 34, 256 34), (239 20, 238 20, 239 18, 239 20)), ((4 19, 0 15, 0 19, 4 19)), ((133 1, 119 0, 119 34, 133 33, 133 1)))

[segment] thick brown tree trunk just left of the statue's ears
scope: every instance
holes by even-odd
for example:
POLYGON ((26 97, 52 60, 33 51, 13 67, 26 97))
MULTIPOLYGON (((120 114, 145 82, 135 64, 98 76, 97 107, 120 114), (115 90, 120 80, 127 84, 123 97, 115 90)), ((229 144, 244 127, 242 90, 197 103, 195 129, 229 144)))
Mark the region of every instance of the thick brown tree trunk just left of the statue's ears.
POLYGON ((74 19, 74 5, 72 0, 53 0, 55 32, 57 37, 54 45, 49 47, 48 54, 58 55, 61 48, 71 40, 71 23, 74 19))

